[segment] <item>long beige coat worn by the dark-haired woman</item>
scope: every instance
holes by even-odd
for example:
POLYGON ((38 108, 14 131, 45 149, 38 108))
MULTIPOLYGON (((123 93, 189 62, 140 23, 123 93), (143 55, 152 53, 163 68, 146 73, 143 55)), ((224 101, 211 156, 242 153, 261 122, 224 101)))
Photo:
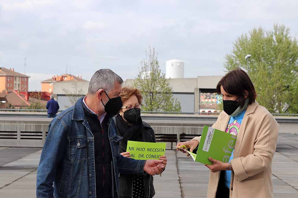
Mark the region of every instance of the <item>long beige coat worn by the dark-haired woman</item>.
MULTIPOLYGON (((218 116, 215 129, 226 131, 230 116, 224 111, 218 116)), ((273 197, 272 159, 275 153, 279 125, 265 107, 257 102, 244 114, 236 140, 230 185, 232 198, 273 197)), ((193 140, 200 142, 200 137, 193 140)), ((215 198, 220 172, 210 172, 208 198, 215 198)))

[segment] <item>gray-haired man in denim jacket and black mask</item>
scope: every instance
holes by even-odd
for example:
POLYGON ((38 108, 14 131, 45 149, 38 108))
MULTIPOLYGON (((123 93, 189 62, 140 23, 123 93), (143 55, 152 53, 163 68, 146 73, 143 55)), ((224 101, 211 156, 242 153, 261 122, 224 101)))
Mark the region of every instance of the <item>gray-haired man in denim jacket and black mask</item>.
POLYGON ((49 124, 37 170, 36 196, 118 198, 118 174, 160 174, 163 160, 135 160, 118 154, 113 121, 122 107, 123 80, 100 69, 90 80, 87 96, 49 124))

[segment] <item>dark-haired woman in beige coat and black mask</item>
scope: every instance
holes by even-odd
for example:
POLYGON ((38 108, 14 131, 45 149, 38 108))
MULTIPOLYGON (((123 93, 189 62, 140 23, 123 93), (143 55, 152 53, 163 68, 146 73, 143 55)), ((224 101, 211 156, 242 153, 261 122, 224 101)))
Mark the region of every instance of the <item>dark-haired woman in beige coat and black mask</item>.
MULTIPOLYGON (((213 164, 205 165, 210 170, 207 197, 273 197, 272 159, 279 125, 255 101, 252 81, 242 69, 227 73, 216 90, 223 96, 224 111, 212 127, 237 135, 237 140, 229 163, 209 158, 213 164)), ((186 145, 193 151, 200 138, 179 142, 177 147, 186 145)))

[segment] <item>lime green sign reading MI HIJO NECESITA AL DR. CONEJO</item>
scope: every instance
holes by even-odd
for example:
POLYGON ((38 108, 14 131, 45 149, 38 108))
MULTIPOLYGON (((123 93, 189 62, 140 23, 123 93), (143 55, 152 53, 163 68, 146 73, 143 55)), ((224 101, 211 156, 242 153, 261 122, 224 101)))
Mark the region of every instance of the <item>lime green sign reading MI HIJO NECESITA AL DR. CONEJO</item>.
POLYGON ((159 159, 165 150, 166 143, 127 141, 126 151, 133 159, 159 159))

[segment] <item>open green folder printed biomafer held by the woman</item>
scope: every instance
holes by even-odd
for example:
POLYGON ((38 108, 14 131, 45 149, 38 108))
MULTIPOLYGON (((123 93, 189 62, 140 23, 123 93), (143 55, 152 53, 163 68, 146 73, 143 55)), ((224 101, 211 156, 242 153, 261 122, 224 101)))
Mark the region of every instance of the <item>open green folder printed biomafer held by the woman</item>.
MULTIPOLYGON (((184 150, 190 154, 194 161, 203 164, 213 164, 209 161, 209 157, 227 163, 235 147, 236 138, 237 136, 235 135, 214 129, 210 126, 204 126, 197 154, 191 153, 187 149, 184 150)), ((182 146, 181 148, 186 147, 182 146)))

